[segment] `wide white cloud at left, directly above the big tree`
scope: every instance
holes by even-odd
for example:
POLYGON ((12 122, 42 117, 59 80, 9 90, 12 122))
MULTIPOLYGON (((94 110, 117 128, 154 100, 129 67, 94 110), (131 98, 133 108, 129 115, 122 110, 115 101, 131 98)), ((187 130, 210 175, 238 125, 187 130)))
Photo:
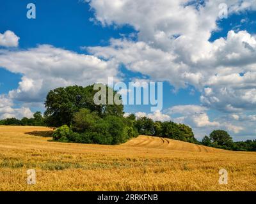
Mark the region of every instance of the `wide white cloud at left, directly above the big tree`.
POLYGON ((19 87, 9 92, 12 99, 42 102, 48 91, 67 85, 108 83, 118 66, 92 55, 77 54, 51 45, 28 50, 0 50, 0 66, 23 77, 19 87))

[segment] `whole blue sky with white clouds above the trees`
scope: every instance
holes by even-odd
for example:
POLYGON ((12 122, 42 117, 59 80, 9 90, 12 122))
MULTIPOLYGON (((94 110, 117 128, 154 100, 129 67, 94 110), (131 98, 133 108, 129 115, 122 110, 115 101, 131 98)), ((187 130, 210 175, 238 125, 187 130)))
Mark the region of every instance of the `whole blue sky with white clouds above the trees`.
POLYGON ((45 95, 60 85, 146 78, 163 82, 163 110, 125 112, 184 122, 199 139, 213 129, 256 139, 255 1, 226 1, 223 19, 221 1, 184 2, 2 1, 0 117, 44 112, 45 95))

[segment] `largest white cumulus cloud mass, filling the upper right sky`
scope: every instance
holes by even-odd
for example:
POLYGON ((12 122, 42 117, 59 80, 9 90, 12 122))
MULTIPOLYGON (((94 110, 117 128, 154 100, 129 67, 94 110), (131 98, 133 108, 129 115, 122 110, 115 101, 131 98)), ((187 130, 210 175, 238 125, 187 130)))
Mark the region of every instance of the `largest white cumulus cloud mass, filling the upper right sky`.
MULTIPOLYGON (((131 71, 165 80, 177 89, 193 85, 202 93, 202 103, 217 110, 256 108, 255 36, 229 31, 227 36, 209 41, 212 32, 221 29, 217 22, 223 1, 89 2, 95 20, 102 25, 129 24, 138 31, 138 41, 111 39, 107 47, 89 47, 92 54, 115 59, 131 71)), ((225 3, 229 15, 256 9, 254 0, 225 3)))

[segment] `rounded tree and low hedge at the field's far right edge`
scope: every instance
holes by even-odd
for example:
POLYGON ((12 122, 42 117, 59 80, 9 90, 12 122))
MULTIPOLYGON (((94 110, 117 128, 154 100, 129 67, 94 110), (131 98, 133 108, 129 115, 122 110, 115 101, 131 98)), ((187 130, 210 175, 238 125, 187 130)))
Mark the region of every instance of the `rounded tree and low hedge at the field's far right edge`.
POLYGON ((256 140, 245 142, 233 142, 232 137, 223 130, 214 130, 209 136, 205 136, 202 145, 236 151, 256 151, 256 140))

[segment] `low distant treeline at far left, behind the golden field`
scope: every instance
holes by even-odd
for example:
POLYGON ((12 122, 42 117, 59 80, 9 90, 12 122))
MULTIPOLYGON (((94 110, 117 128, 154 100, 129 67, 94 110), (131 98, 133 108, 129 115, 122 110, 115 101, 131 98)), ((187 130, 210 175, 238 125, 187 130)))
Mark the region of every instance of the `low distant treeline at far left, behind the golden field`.
POLYGON ((27 117, 21 120, 16 118, 8 118, 0 120, 1 126, 46 126, 44 117, 41 112, 35 112, 33 117, 28 119, 27 117))

